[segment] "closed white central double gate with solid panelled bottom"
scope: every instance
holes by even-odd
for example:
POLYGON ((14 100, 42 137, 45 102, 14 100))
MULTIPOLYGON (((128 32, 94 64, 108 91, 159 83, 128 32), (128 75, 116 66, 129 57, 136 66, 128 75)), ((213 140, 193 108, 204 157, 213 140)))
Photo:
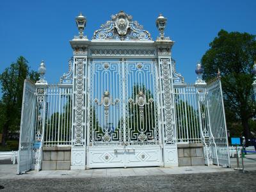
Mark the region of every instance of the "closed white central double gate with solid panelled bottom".
POLYGON ((156 63, 90 62, 88 167, 159 166, 156 63))

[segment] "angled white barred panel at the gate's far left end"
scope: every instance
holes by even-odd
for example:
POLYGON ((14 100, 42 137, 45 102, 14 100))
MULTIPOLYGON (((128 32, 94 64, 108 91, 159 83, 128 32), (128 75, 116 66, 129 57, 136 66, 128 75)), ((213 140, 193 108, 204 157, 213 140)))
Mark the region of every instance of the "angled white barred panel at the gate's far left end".
POLYGON ((20 140, 17 173, 26 172, 33 164, 33 141, 35 129, 36 95, 35 85, 24 81, 22 112, 20 118, 20 140))

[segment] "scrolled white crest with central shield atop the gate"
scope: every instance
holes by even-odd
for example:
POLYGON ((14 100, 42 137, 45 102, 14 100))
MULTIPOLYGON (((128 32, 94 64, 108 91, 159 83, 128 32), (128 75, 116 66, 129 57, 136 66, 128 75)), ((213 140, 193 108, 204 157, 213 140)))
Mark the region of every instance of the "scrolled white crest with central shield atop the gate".
POLYGON ((143 30, 137 21, 132 21, 132 16, 120 11, 111 16, 99 30, 94 32, 93 39, 97 40, 152 40, 150 33, 143 30))

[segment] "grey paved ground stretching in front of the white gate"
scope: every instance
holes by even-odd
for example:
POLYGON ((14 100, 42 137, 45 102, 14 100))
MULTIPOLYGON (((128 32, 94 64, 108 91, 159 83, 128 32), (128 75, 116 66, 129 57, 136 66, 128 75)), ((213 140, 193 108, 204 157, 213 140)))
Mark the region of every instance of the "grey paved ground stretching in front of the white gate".
MULTIPOLYGON (((240 159, 241 160, 241 159, 240 159)), ((0 164, 1 191, 256 191, 256 155, 246 155, 245 170, 221 166, 108 168, 31 171, 16 175, 17 164, 0 164)))

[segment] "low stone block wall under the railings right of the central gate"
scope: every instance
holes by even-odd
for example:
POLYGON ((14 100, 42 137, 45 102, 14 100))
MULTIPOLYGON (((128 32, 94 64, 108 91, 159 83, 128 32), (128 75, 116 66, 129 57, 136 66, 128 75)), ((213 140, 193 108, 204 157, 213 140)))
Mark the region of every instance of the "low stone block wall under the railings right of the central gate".
POLYGON ((204 165, 203 144, 178 144, 179 166, 204 165))

